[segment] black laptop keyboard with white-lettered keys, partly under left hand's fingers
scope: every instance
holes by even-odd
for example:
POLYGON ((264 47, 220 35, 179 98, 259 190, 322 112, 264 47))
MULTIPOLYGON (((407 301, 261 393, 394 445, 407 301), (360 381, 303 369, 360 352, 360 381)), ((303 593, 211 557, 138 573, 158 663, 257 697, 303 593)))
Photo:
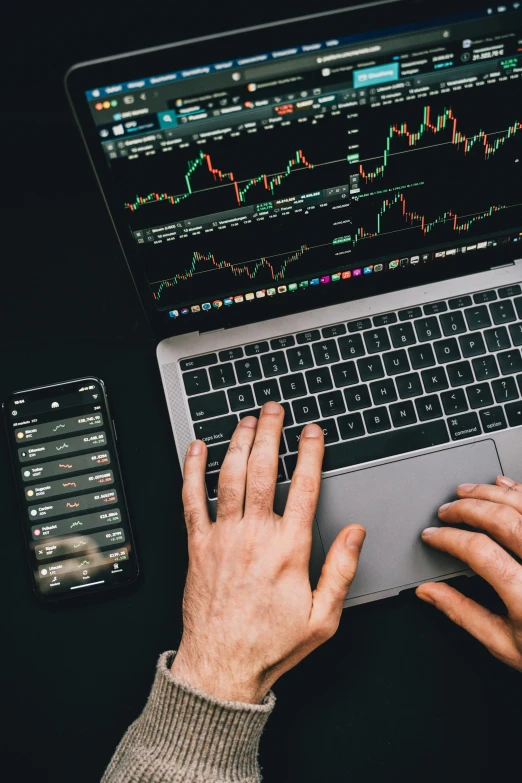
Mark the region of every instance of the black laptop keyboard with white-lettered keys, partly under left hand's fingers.
POLYGON ((207 491, 241 417, 283 405, 278 481, 303 426, 323 472, 522 424, 522 289, 511 285, 180 361, 207 491))

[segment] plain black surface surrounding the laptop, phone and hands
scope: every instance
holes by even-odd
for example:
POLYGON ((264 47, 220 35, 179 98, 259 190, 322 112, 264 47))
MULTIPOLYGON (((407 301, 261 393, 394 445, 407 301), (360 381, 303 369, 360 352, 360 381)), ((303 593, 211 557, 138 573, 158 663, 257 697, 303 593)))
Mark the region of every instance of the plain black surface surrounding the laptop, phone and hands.
MULTIPOLYGON (((309 0, 280 7, 285 16, 312 10, 309 0)), ((275 14, 268 5, 203 0, 4 5, 0 396, 82 375, 105 380, 142 565, 124 596, 40 607, 2 433, 5 779, 100 779, 145 702, 158 654, 179 642, 187 565, 155 343, 70 116, 63 74, 79 60, 275 14)), ((478 579, 463 581, 468 594, 495 605, 478 579)), ((267 781, 506 780, 518 761, 521 676, 411 593, 346 612, 335 638, 275 690, 260 753, 267 781)))

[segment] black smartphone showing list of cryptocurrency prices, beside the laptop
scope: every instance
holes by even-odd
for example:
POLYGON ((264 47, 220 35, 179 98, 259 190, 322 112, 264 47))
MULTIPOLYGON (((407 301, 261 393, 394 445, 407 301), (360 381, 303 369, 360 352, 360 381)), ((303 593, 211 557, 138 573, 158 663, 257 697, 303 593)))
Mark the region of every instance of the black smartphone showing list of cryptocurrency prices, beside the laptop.
POLYGON ((37 597, 133 582, 138 561, 103 381, 14 392, 3 409, 37 597))

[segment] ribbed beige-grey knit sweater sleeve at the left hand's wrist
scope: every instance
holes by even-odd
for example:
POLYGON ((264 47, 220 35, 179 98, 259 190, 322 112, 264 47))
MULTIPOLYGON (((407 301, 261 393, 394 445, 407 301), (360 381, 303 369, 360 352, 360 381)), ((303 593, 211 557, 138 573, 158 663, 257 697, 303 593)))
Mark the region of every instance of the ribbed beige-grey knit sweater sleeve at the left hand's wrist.
POLYGON ((163 653, 145 709, 116 748, 102 783, 258 783, 259 740, 275 704, 208 696, 174 677, 163 653))

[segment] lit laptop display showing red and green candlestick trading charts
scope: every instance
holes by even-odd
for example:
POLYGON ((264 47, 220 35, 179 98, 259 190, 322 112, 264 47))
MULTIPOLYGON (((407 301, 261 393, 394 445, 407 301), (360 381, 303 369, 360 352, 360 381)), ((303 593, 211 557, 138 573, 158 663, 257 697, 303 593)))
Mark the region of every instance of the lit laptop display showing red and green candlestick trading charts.
POLYGON ((282 297, 521 242, 520 5, 328 40, 290 25, 277 50, 228 40, 219 62, 92 85, 161 317, 199 330, 257 302, 262 319, 282 297))

